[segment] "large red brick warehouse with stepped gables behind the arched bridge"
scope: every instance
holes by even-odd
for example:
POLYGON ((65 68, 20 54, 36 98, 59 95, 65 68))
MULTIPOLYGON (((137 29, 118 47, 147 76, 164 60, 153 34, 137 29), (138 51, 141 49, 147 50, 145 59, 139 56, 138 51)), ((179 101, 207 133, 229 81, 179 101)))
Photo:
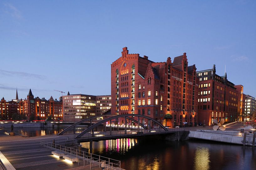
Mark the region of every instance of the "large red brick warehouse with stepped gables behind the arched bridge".
POLYGON ((111 64, 111 114, 144 114, 170 127, 196 126, 198 84, 196 66, 188 66, 186 53, 173 62, 170 57, 153 62, 124 47, 111 64))

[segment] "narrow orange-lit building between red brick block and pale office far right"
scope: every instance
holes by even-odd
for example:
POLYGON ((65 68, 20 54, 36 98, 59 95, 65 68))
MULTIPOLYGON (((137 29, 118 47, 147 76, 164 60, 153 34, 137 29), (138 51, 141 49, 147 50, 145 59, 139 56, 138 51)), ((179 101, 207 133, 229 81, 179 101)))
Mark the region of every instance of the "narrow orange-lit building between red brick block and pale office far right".
POLYGON ((243 85, 235 85, 238 94, 238 121, 244 121, 245 94, 243 94, 243 85))

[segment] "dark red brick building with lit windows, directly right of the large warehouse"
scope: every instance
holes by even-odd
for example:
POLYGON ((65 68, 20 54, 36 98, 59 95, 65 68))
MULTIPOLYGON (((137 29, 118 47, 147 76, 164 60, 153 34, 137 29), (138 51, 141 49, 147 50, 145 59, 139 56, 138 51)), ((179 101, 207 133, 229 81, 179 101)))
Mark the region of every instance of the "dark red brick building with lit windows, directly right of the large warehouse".
POLYGON ((234 84, 227 80, 227 74, 216 74, 212 69, 197 71, 199 77, 198 122, 211 125, 213 119, 226 122, 237 121, 238 93, 234 84))

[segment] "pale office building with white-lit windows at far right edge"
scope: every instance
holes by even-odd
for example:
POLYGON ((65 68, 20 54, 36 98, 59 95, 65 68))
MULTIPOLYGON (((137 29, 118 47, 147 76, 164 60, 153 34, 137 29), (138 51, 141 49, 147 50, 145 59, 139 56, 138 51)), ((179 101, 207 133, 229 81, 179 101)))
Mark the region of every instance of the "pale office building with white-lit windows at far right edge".
POLYGON ((252 97, 250 95, 245 96, 244 115, 245 115, 246 121, 252 120, 253 113, 255 113, 256 111, 255 104, 256 104, 255 97, 252 97))

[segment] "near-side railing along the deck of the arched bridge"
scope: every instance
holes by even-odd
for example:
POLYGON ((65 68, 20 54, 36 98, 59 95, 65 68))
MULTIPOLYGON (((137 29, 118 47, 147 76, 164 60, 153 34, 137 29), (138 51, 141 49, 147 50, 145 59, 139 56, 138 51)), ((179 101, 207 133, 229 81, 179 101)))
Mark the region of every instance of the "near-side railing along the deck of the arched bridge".
MULTIPOLYGON (((140 129, 138 132, 138 129, 127 129, 126 134, 124 130, 119 130, 119 131, 106 131, 106 132, 94 132, 92 134, 92 132, 83 134, 83 136, 81 138, 83 139, 101 139, 104 138, 106 136, 115 136, 115 137, 122 137, 124 135, 137 135, 137 134, 154 134, 154 133, 169 133, 169 132, 181 132, 181 131, 185 131, 184 128, 171 128, 168 129, 168 131, 165 131, 164 129, 140 129)), ((79 134, 75 134, 75 138, 78 136, 79 134)))

